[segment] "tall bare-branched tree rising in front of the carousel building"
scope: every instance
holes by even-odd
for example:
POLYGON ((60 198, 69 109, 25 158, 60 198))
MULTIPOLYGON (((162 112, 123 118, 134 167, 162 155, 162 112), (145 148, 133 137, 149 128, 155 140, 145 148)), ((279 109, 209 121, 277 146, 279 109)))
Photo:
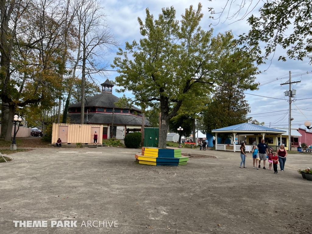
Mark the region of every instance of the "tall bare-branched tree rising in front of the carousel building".
MULTIPOLYGON (((103 59, 111 47, 118 46, 119 42, 110 32, 99 0, 81 0, 77 13, 80 23, 81 46, 81 100, 85 100, 86 76, 92 79, 91 74, 102 73, 107 67, 103 59)), ((80 124, 84 123, 85 102, 81 102, 80 124)))

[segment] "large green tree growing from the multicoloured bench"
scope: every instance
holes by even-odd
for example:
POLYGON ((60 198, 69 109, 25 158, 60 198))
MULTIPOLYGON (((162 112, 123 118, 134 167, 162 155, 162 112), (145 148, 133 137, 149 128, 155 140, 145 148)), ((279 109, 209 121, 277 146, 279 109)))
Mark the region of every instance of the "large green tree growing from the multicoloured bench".
POLYGON ((112 67, 118 67, 119 92, 130 90, 137 105, 153 107, 159 103, 161 126, 159 148, 166 148, 169 120, 178 113, 183 100, 196 98, 197 90, 211 90, 214 85, 233 82, 256 89, 256 67, 248 51, 237 47, 231 32, 212 37, 212 29, 199 26, 202 5, 185 10, 176 19, 173 7, 163 8, 158 19, 146 9, 145 22, 138 18, 143 38, 139 43, 126 42, 119 48, 112 67), (130 54, 133 60, 128 58, 130 54), (235 78, 228 74, 235 74, 235 78), (188 96, 192 93, 193 96, 188 96))

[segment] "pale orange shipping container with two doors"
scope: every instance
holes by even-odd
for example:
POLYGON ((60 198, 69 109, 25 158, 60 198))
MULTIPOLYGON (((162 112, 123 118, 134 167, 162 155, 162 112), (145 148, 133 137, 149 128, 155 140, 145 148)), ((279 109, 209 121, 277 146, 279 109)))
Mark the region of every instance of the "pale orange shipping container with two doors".
POLYGON ((56 124, 52 126, 52 144, 61 138, 62 144, 93 143, 95 131, 98 135, 97 144, 102 144, 103 125, 92 124, 56 124))

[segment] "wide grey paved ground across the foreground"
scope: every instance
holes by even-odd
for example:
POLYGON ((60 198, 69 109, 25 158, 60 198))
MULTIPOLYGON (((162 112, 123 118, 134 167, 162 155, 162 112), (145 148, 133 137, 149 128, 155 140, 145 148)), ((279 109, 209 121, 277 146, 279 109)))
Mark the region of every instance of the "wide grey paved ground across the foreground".
POLYGON ((311 156, 289 155, 275 175, 252 169, 250 154, 241 169, 239 153, 182 151, 218 158, 153 167, 134 163, 134 149, 11 154, 0 164, 0 233, 312 233, 312 182, 296 172, 311 156), (14 220, 48 227, 14 227, 14 220), (52 228, 59 220, 78 227, 52 228), (80 227, 95 220, 118 227, 80 227))

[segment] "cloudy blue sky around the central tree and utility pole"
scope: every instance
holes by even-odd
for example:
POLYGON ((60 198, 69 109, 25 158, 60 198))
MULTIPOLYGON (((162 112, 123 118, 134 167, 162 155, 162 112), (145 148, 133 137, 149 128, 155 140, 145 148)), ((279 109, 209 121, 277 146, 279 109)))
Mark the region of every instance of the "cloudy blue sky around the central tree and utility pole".
MULTIPOLYGON (((139 32, 138 17, 140 17, 144 21, 146 16, 146 8, 149 8, 149 11, 151 14, 154 15, 154 18, 157 18, 163 7, 173 6, 177 12, 177 19, 180 20, 181 15, 185 11, 185 8, 193 5, 194 8, 197 9, 198 2, 199 1, 194 0, 104 0, 102 1, 102 5, 103 7, 105 7, 107 22, 110 25, 112 33, 120 41, 120 47, 124 49, 126 41, 139 41, 139 39, 141 38, 139 32)), ((250 26, 246 22, 246 18, 240 21, 237 21, 238 18, 225 20, 225 16, 222 15, 219 23, 218 21, 213 21, 209 18, 210 13, 208 12, 208 7, 213 7, 216 12, 219 12, 222 10, 222 7, 226 5, 227 0, 212 0, 212 2, 204 0, 200 2, 202 3, 202 13, 204 14, 200 24, 202 29, 209 30, 209 25, 212 23, 215 25, 213 26, 215 35, 219 32, 224 33, 228 30, 232 30, 234 35, 240 35, 244 32, 248 32, 250 26)), ((252 7, 250 7, 250 9, 252 9, 252 7)), ((255 7, 255 9, 251 13, 257 15, 258 9, 259 7, 255 7)), ((235 5, 231 8, 230 11, 233 12, 234 10, 237 10, 237 6, 235 5)), ((216 17, 216 15, 214 16, 216 17)), ((110 61, 110 63, 113 63, 114 57, 116 56, 116 50, 114 50, 107 57, 107 60, 110 61)), ((256 82, 260 82, 260 84, 263 84, 259 87, 259 90, 247 90, 245 93, 246 100, 251 107, 251 113, 248 115, 249 117, 253 117, 253 119, 258 120, 259 122, 265 122, 265 126, 268 127, 271 126, 288 128, 289 104, 286 100, 284 100, 285 98, 287 99, 287 97, 284 96, 284 91, 289 89, 289 85, 281 86, 280 84, 288 81, 289 71, 291 71, 292 76, 295 76, 307 71, 310 71, 311 73, 312 68, 309 65, 308 60, 290 60, 286 62, 278 61, 278 57, 280 55, 285 55, 285 50, 278 48, 270 66, 269 64, 259 66, 259 70, 262 71, 262 73, 257 76, 256 82), (273 80, 276 78, 284 79, 275 80, 269 84, 264 85, 267 80, 273 80)), ((114 80, 115 76, 118 76, 117 72, 108 73, 108 78, 110 80, 114 80)), ((301 80, 300 83, 292 85, 292 89, 296 90, 296 101, 292 103, 292 117, 294 118, 294 120, 292 121, 293 128, 305 128, 303 123, 306 120, 310 120, 312 122, 312 107, 310 105, 312 99, 300 100, 312 97, 311 84, 309 82, 311 80, 311 77, 312 74, 306 74, 292 78, 292 81, 301 80)), ((99 78, 99 80, 104 82, 106 78, 101 77, 99 78)), ((123 95, 117 93, 115 90, 113 91, 113 94, 119 97, 123 95)), ((130 92, 126 92, 125 95, 128 97, 132 97, 132 94, 130 92)))

